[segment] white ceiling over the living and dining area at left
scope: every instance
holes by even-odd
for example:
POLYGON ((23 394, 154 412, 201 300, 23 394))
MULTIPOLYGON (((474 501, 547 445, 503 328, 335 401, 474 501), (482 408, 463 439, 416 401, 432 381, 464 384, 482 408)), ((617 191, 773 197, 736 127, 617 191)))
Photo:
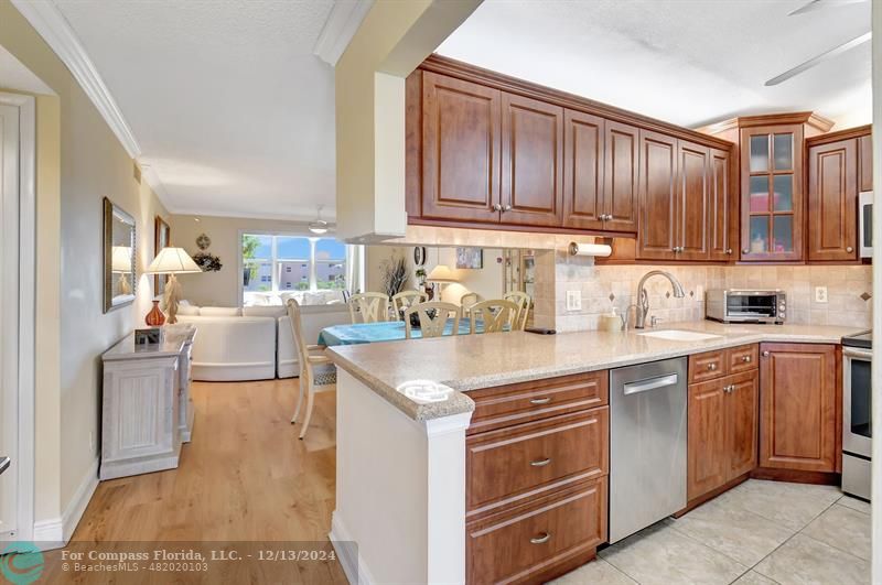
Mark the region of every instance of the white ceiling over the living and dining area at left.
POLYGON ((333 0, 53 0, 175 213, 332 219, 333 0))

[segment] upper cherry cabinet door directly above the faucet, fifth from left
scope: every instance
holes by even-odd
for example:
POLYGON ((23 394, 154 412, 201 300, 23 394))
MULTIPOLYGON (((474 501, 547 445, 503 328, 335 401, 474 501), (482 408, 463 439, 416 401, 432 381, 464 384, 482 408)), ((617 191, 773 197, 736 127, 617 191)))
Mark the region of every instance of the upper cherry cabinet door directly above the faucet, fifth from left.
POLYGON ((639 133, 638 260, 676 260, 677 139, 641 130, 639 133))

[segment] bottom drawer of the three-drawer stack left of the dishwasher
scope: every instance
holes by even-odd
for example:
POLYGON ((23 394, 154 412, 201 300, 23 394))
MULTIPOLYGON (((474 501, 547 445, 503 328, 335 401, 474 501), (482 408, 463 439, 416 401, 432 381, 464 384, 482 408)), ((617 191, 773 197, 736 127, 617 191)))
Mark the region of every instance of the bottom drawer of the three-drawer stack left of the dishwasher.
POLYGON ((469 524, 466 581, 539 582, 556 565, 577 555, 592 555, 605 540, 603 477, 469 524))

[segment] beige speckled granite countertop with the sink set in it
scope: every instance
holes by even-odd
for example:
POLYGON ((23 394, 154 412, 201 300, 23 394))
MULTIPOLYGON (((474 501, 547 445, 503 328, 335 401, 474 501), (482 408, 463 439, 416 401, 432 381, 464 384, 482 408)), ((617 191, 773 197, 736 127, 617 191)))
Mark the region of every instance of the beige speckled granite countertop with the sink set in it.
POLYGON ((825 325, 724 325, 711 321, 666 324, 656 329, 577 332, 558 335, 505 333, 410 339, 327 349, 327 356, 416 421, 474 410, 470 390, 617 368, 760 342, 838 344, 843 335, 863 331, 825 325), (639 335, 688 329, 720 337, 680 342, 639 335), (456 392, 445 402, 417 403, 396 390, 398 384, 428 379, 456 392))

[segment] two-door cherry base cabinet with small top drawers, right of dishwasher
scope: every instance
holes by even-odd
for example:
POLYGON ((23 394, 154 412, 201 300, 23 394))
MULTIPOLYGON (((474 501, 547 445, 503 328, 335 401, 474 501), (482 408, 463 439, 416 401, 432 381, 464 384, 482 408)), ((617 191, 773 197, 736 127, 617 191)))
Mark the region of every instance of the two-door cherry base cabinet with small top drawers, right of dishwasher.
POLYGON ((755 345, 690 356, 687 499, 756 466, 759 371, 755 345), (695 373, 693 373, 695 372, 695 373))

